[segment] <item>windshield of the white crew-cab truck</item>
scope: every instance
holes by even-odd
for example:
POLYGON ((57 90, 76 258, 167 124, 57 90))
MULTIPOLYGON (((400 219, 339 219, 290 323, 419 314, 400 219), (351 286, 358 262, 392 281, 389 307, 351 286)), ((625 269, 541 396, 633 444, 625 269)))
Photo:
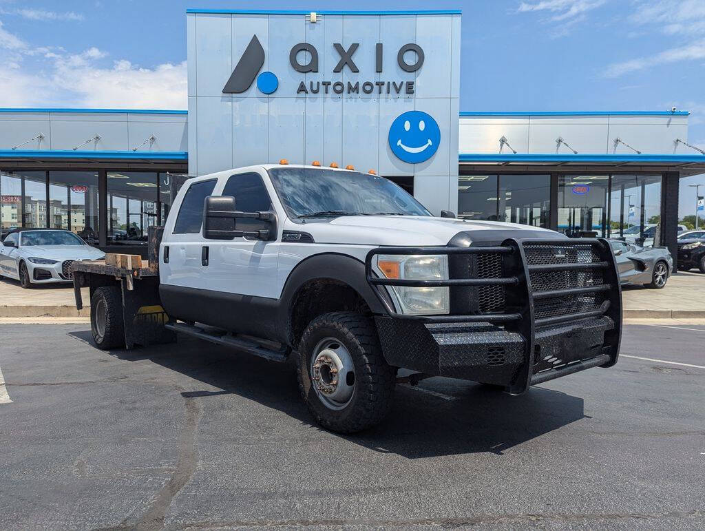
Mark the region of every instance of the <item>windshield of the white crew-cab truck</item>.
POLYGON ((430 216, 430 212, 384 177, 357 171, 273 168, 269 176, 288 216, 430 216))

